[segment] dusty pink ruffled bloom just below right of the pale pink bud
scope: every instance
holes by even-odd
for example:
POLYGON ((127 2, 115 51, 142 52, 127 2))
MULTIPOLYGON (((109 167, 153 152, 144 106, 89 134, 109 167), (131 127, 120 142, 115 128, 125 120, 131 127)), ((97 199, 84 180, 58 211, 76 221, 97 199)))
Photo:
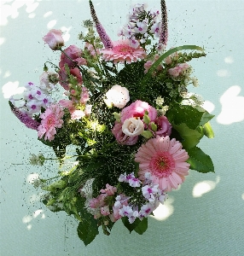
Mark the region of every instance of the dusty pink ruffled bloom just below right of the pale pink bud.
POLYGON ((77 46, 70 45, 64 52, 65 53, 61 53, 60 68, 64 68, 65 64, 67 64, 67 66, 72 69, 75 67, 75 62, 78 62, 78 64, 84 63, 84 59, 81 58, 82 50, 77 46))

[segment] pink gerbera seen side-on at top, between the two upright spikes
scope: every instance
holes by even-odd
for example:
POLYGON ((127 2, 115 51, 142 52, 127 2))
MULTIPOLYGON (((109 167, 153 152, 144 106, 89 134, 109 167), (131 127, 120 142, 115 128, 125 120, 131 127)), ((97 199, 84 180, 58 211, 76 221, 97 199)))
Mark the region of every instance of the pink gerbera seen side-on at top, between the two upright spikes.
POLYGON ((141 46, 137 49, 130 46, 130 40, 119 40, 113 42, 113 49, 102 49, 102 57, 105 61, 113 61, 113 63, 124 62, 127 63, 136 62, 138 59, 144 59, 146 53, 141 46))

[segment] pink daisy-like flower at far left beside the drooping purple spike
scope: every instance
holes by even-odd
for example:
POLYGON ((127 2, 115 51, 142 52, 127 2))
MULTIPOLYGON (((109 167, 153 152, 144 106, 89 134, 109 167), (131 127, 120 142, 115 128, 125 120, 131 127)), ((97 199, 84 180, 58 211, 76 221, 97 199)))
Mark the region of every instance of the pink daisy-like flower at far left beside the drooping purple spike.
POLYGON ((40 115, 42 119, 41 125, 38 126, 38 137, 42 138, 44 135, 44 140, 52 141, 55 138, 56 129, 61 128, 63 120, 61 119, 64 112, 59 105, 50 105, 44 113, 40 115))

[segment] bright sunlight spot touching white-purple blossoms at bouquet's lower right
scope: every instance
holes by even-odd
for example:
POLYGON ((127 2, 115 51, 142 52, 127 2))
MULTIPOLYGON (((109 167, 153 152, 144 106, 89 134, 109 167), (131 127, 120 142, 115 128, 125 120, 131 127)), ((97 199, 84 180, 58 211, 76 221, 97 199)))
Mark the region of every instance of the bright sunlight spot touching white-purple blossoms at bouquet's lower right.
POLYGON ((160 206, 154 211, 154 216, 150 215, 150 217, 157 220, 165 220, 166 218, 169 218, 174 212, 174 207, 171 205, 173 201, 174 199, 172 197, 167 198, 165 203, 163 205, 160 203, 160 206))

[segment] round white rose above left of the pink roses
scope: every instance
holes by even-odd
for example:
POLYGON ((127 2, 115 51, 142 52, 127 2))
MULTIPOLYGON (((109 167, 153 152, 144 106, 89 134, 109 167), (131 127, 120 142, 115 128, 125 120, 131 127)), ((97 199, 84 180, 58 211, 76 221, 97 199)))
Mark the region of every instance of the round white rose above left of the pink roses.
POLYGON ((124 108, 126 103, 130 101, 129 90, 119 84, 113 85, 113 87, 107 91, 106 96, 106 104, 110 105, 109 103, 113 103, 117 108, 124 108))

